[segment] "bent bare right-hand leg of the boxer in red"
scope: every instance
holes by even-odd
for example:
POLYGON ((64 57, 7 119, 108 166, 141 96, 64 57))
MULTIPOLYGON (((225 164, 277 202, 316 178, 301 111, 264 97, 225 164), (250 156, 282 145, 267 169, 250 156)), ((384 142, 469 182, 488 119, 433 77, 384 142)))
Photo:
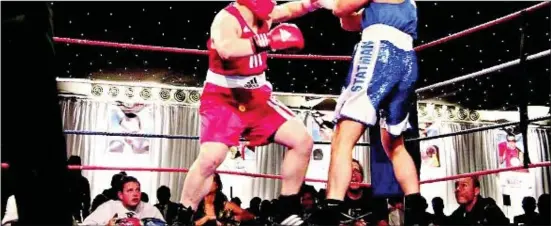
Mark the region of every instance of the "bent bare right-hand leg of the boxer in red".
POLYGON ((292 119, 277 130, 274 140, 289 147, 281 166, 281 195, 297 194, 302 186, 314 142, 304 124, 292 119))

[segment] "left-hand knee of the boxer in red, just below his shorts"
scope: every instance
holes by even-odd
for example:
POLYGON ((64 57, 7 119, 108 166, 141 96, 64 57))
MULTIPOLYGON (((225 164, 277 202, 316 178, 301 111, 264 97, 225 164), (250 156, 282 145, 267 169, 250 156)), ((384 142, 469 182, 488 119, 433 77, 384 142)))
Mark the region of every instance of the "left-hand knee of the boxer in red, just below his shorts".
POLYGON ((228 152, 228 146, 222 143, 207 142, 201 144, 197 166, 205 176, 210 176, 222 164, 228 152))

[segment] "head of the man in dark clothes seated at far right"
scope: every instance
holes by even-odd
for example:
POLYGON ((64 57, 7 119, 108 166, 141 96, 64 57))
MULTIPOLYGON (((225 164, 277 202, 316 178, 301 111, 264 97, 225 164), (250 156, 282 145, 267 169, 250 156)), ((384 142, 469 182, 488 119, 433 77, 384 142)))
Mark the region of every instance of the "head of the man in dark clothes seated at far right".
POLYGON ((474 205, 478 195, 480 195, 480 181, 477 177, 466 177, 455 181, 455 199, 459 205, 474 205))

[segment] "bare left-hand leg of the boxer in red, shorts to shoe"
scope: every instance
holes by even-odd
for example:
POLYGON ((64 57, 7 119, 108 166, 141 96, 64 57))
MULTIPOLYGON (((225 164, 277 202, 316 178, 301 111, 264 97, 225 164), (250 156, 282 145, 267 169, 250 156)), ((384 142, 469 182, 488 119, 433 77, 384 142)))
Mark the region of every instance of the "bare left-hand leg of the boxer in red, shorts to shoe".
POLYGON ((210 190, 214 171, 226 158, 229 147, 222 143, 205 142, 201 145, 199 156, 189 169, 180 202, 185 207, 197 210, 199 202, 210 190))

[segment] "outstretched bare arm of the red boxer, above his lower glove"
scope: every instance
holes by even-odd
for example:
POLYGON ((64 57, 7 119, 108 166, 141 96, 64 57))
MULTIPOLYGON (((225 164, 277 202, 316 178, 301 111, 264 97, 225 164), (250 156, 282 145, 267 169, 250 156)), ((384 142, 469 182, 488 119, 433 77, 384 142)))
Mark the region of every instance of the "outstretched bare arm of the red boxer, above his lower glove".
POLYGON ((311 0, 292 1, 277 5, 270 17, 274 23, 281 23, 304 16, 318 8, 311 0))

